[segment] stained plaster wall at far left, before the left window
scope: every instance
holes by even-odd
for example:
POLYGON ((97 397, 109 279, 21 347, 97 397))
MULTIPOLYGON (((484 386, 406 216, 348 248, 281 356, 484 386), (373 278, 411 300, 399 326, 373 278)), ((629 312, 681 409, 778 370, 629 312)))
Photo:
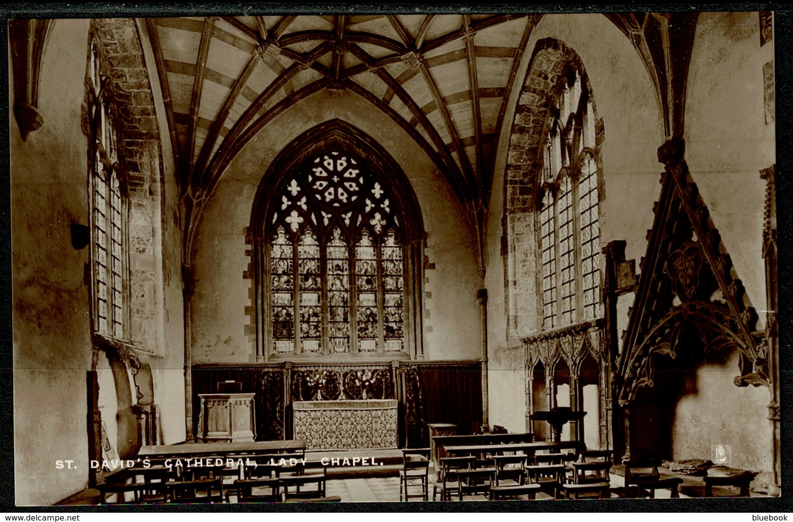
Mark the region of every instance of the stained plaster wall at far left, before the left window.
POLYGON ((48 50, 64 51, 44 53, 41 77, 59 78, 40 86, 44 125, 23 143, 11 112, 9 119, 14 466, 21 505, 56 501, 85 486, 88 476, 91 350, 82 282, 88 250, 71 247, 69 229, 88 220, 87 139, 80 131, 87 34, 87 21, 56 22, 48 50), (56 470, 58 459, 82 463, 82 470, 56 470))

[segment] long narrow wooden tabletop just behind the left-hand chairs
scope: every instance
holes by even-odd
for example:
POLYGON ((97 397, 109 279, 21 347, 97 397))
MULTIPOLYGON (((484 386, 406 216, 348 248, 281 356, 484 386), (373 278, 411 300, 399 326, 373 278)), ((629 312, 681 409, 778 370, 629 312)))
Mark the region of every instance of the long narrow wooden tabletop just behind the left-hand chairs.
POLYGON ((260 442, 206 442, 142 446, 138 456, 167 458, 217 455, 225 457, 232 454, 256 455, 301 451, 305 451, 305 441, 303 440, 262 440, 260 442))

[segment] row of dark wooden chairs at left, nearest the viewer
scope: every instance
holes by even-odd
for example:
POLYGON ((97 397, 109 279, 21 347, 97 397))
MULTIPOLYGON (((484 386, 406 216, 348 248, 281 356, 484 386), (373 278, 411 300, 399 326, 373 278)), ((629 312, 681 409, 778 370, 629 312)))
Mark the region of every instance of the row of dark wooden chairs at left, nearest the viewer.
POLYGON ((98 485, 100 503, 108 503, 109 497, 136 504, 341 500, 326 496, 325 470, 308 472, 302 453, 236 455, 232 460, 231 466, 166 467, 154 462, 133 468, 124 482, 98 485))

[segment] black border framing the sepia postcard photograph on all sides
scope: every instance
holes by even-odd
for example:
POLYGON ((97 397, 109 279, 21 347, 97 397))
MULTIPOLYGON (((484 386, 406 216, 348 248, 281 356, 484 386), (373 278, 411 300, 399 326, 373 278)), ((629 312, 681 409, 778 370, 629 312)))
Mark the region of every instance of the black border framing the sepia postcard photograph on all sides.
MULTIPOLYGON (((782 496, 720 499, 657 499, 655 501, 615 500, 585 502, 465 502, 465 503, 390 503, 373 502, 368 504, 344 503, 341 505, 213 505, 213 506, 20 506, 14 505, 13 490, 13 430, 0 430, 0 509, 11 513, 28 514, 32 512, 524 512, 527 508, 537 512, 791 512, 793 511, 793 471, 791 455, 793 444, 793 318, 788 319, 793 305, 793 293, 787 293, 787 285, 793 280, 791 265, 791 246, 793 246, 793 177, 788 172, 793 166, 793 6, 780 3, 709 3, 700 5, 672 5, 677 11, 774 11, 774 61, 776 68, 776 165, 777 172, 777 228, 782 238, 778 259, 778 287, 780 293, 780 409, 782 459, 782 496)), ((234 13, 249 15, 260 13, 295 14, 344 14, 344 13, 603 13, 620 11, 667 11, 669 4, 622 3, 592 6, 591 4, 549 4, 526 6, 516 3, 469 3, 427 5, 416 3, 393 4, 347 4, 328 2, 322 4, 306 3, 192 3, 154 4, 57 4, 51 2, 7 3, 0 5, 0 38, 8 42, 10 18, 90 18, 90 17, 153 17, 153 16, 201 16, 234 13)), ((3 53, 0 63, 0 78, 8 85, 8 52, 3 53)), ((2 105, 2 114, 9 120, 10 110, 2 105)), ((2 311, 3 343, 0 349, 0 425, 13 425, 13 327, 11 299, 11 227, 10 227, 10 149, 9 135, 3 133, 2 143, 5 152, 0 162, 0 311, 2 311)), ((748 519, 747 519, 748 520, 748 519)))

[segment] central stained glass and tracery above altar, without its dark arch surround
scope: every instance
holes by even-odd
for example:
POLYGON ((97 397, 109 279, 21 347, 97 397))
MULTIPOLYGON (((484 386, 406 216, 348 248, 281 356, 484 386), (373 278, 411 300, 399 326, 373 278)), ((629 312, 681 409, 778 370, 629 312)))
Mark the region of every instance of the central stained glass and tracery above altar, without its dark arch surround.
POLYGON ((320 152, 276 200, 266 220, 271 352, 404 352, 404 252, 388 183, 354 154, 320 152))

